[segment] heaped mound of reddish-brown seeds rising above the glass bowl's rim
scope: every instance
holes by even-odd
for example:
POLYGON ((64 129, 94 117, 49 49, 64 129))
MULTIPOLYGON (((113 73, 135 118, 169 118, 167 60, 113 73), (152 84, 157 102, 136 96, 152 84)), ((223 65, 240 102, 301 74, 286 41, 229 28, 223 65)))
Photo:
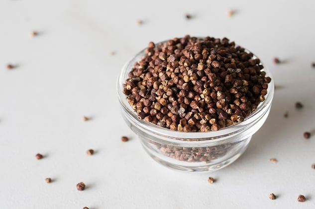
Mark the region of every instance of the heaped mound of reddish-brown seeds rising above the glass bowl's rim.
POLYGON ((184 132, 218 131, 242 122, 265 100, 260 60, 227 38, 189 35, 155 45, 123 84, 139 120, 184 132))

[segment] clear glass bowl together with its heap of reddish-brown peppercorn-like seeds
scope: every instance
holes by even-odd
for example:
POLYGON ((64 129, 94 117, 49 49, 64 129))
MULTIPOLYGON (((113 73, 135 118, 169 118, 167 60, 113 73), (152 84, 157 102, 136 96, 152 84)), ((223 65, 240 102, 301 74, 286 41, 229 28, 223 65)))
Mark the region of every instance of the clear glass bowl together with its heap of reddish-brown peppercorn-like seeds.
POLYGON ((274 82, 227 38, 153 43, 123 67, 122 117, 148 154, 176 170, 214 171, 236 160, 268 117, 274 82))

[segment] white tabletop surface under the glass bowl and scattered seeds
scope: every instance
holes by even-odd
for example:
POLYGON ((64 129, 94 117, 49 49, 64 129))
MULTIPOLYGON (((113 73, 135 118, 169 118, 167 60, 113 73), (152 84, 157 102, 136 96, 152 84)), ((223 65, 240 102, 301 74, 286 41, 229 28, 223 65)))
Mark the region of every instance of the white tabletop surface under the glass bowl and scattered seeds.
POLYGON ((314 21, 312 0, 0 0, 0 208, 314 209, 315 137, 303 138, 315 135, 314 21), (279 87, 245 153, 214 173, 157 164, 117 101, 127 60, 149 41, 186 34, 234 40, 261 58, 279 87), (273 64, 275 56, 286 62, 273 64), (296 110, 296 101, 305 107, 296 110), (45 157, 37 160, 38 152, 45 157))

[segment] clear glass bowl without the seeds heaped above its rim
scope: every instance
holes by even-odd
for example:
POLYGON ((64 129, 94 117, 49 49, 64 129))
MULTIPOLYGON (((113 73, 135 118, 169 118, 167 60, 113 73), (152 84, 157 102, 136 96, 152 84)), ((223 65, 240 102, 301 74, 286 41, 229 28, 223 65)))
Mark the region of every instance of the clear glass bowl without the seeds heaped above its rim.
MULTIPOLYGON (((247 51, 249 52, 249 51, 247 51)), ((137 114, 122 93, 128 72, 133 64, 145 55, 139 52, 127 62, 117 81, 118 99, 123 119, 138 135, 146 152, 162 165, 186 172, 215 171, 235 161, 247 148, 252 135, 266 121, 274 95, 273 79, 268 84, 268 93, 257 110, 241 123, 210 132, 179 132, 139 120, 137 114)), ((269 70, 263 69, 272 78, 269 70)))

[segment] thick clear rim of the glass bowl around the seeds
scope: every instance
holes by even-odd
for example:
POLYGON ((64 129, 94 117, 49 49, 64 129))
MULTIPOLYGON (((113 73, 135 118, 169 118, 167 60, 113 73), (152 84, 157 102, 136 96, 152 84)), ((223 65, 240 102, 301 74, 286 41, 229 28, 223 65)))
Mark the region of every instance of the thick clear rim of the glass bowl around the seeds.
MULTIPOLYGON (((197 37, 197 38, 202 39, 205 37, 197 37)), ((156 45, 157 44, 164 44, 167 41, 168 40, 157 42, 156 45)), ((239 46, 239 45, 235 44, 235 47, 237 47, 237 46, 239 46)), ((242 47, 242 46, 240 46, 240 47, 242 47)), ((242 47, 242 48, 244 48, 244 47, 242 47)), ((265 96, 265 100, 258 105, 257 109, 252 114, 250 114, 248 117, 246 117, 244 119, 244 121, 242 121, 240 123, 222 128, 218 131, 180 132, 180 131, 175 131, 175 130, 163 128, 163 127, 157 126, 155 124, 140 120, 137 118, 135 111, 128 104, 128 102, 126 100, 127 96, 122 93, 122 89, 123 89, 122 84, 125 82, 125 79, 126 79, 125 76, 131 70, 131 68, 133 68, 133 64, 145 55, 146 49, 147 48, 144 48, 143 50, 138 52, 133 58, 131 58, 128 62, 126 62, 123 65, 123 67, 119 73, 118 79, 117 79, 117 87, 116 87, 118 100, 119 100, 119 103, 121 105, 121 108, 123 108, 124 112, 126 114, 129 114, 129 116, 131 116, 132 119, 134 119, 134 122, 136 122, 136 125, 143 130, 149 131, 150 133, 155 134, 155 135, 163 136, 166 138, 165 140, 168 140, 170 142, 171 141, 173 141, 173 142, 199 142, 199 143, 201 142, 200 140, 199 141, 190 141, 189 139, 204 139, 204 140, 202 140, 204 142, 206 142, 206 141, 217 142, 217 141, 226 139, 226 137, 229 137, 231 135, 235 135, 235 134, 238 134, 238 133, 244 131, 244 129, 246 129, 246 127, 249 124, 251 124, 255 120, 257 120, 257 117, 259 116, 259 114, 264 114, 265 112, 268 111, 268 109, 270 109, 270 106, 271 106, 271 103, 273 100, 273 96, 274 96, 274 77, 272 76, 270 70, 268 70, 268 68, 266 68, 262 62, 260 62, 260 64, 264 66, 264 68, 261 71, 265 71, 266 76, 269 76, 271 78, 271 82, 268 83, 268 89, 267 89, 268 93, 265 96), (182 139, 182 140, 180 140, 180 139, 182 139), (183 139, 186 139, 186 140, 183 140, 183 139)), ((252 53, 248 49, 246 49, 246 48, 244 48, 244 49, 245 49, 245 52, 252 53)), ((258 58, 254 53, 252 53, 252 54, 253 54, 254 59, 258 58)))

